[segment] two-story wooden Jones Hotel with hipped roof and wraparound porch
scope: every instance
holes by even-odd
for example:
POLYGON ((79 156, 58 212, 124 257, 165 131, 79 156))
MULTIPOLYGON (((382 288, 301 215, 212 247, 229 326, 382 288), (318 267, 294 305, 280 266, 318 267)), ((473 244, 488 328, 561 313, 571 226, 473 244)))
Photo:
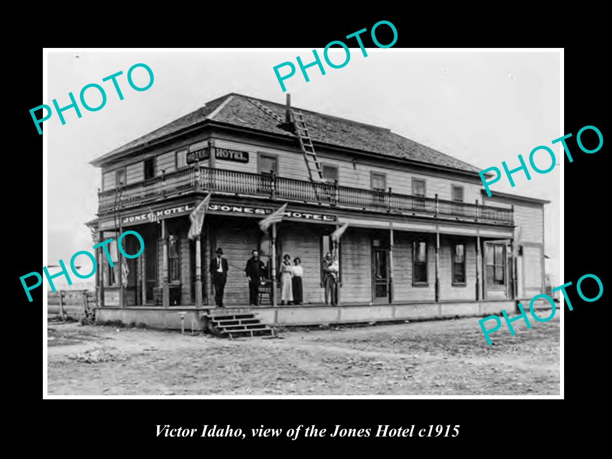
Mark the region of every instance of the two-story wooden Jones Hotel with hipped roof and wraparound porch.
POLYGON ((207 267, 217 247, 230 264, 225 305, 248 308, 243 270, 253 248, 272 264, 271 233, 258 222, 284 203, 275 264, 286 253, 302 260, 304 304, 263 297, 256 312, 266 323, 484 315, 543 293, 548 201, 487 198, 479 168, 389 129, 302 110, 320 169, 311 179, 294 110, 224 95, 92 162, 102 190, 89 225, 100 240, 135 230, 145 242, 143 255, 122 259, 125 283, 119 264, 99 254, 97 318, 180 327, 185 312, 199 327, 215 307, 207 267), (209 192, 194 242, 188 215, 209 192), (347 222, 340 304, 324 306, 321 260, 347 222))

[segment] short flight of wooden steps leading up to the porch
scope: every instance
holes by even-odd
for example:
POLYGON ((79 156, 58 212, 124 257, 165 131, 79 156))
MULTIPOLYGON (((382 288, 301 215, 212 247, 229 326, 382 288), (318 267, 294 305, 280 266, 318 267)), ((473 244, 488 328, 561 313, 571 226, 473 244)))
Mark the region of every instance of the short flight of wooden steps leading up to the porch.
POLYGON ((205 315, 211 333, 224 338, 274 337, 274 329, 261 323, 255 314, 245 308, 211 309, 205 315))

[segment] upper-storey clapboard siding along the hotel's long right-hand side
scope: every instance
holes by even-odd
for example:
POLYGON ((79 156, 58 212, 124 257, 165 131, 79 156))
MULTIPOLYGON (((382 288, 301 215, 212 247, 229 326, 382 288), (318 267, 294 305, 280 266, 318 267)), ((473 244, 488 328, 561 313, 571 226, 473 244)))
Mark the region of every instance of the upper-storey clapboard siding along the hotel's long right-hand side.
MULTIPOLYGON (((304 180, 308 177, 306 164, 297 151, 285 151, 280 149, 272 149, 267 147, 256 147, 249 144, 243 144, 233 141, 217 140, 215 146, 220 148, 229 148, 239 151, 247 151, 249 154, 248 163, 237 163, 233 161, 215 159, 215 167, 220 169, 231 169, 242 172, 257 173, 258 154, 272 154, 278 156, 278 175, 292 179, 304 180)), ((460 180, 450 180, 443 177, 428 176, 409 171, 398 170, 393 166, 380 167, 370 166, 363 163, 353 163, 349 160, 339 160, 336 158, 326 157, 326 155, 318 153, 322 163, 338 167, 338 183, 346 187, 356 187, 370 189, 370 172, 378 172, 386 174, 387 188, 391 187, 395 193, 410 195, 412 194, 412 179, 411 177, 425 180, 425 192, 430 198, 435 197, 436 193, 441 200, 452 200, 452 185, 459 185, 464 188, 464 200, 466 203, 474 203, 480 201, 479 184, 473 182, 463 182, 460 180)))

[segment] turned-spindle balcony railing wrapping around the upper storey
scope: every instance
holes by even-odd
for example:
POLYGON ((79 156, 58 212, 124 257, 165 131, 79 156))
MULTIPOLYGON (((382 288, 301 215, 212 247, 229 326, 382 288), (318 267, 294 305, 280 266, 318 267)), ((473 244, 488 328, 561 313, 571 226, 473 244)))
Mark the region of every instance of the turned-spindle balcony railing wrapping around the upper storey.
POLYGON ((369 211, 425 215, 473 222, 513 224, 513 210, 456 203, 424 196, 344 187, 335 183, 310 182, 269 174, 252 174, 200 166, 176 171, 117 190, 99 193, 99 213, 112 212, 121 200, 121 209, 146 204, 159 198, 196 190, 212 190, 244 196, 349 207, 369 211))

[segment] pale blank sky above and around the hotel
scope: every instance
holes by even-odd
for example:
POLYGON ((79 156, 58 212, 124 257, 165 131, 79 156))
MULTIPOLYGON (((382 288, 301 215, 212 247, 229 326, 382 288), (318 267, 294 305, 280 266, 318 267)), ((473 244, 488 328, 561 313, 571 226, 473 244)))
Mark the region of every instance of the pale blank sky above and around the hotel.
MULTIPOLYGON (((322 55, 322 50, 318 50, 322 55)), ((330 53, 332 62, 342 62, 344 51, 330 53), (339 53, 339 54, 338 54, 339 53)), ((549 146, 563 164, 560 144, 564 135, 560 122, 559 53, 465 53, 414 52, 394 48, 351 48, 351 58, 341 69, 324 64, 308 69, 310 81, 300 75, 296 56, 307 64, 312 50, 189 51, 189 52, 50 52, 47 62, 46 103, 57 99, 69 105, 69 92, 78 100, 81 88, 97 83, 106 91, 106 105, 86 111, 81 118, 73 109, 64 111, 62 125, 54 112, 44 129, 48 135, 48 258, 69 263, 73 253, 91 248, 85 222, 95 218, 99 168, 89 162, 100 155, 151 132, 228 92, 253 95, 285 103, 285 94, 272 68, 285 61, 297 67, 285 80, 291 104, 340 118, 386 127, 392 132, 461 159, 478 168, 519 165, 529 152, 549 146), (144 63, 154 73, 146 91, 134 91, 127 83, 127 70, 144 63), (119 100, 111 81, 102 78, 122 71, 118 83, 124 95, 119 100)), ((286 72, 286 68, 280 70, 286 72)), ((284 73, 282 73, 284 74, 284 73)), ((144 86, 144 69, 133 73, 144 86)), ((101 96, 88 89, 86 102, 98 106, 101 96)), ((32 129, 35 129, 32 123, 32 129)), ((550 163, 536 159, 540 168, 550 163)), ((559 285, 559 181, 561 168, 536 174, 527 181, 523 173, 513 175, 515 187, 502 178, 491 191, 532 196, 551 203, 545 206, 545 253, 553 286, 559 285)), ((82 272, 91 263, 82 256, 82 272)), ((78 265, 78 263, 77 263, 78 265)), ((53 269, 50 269, 53 274, 53 269)), ((57 279, 56 288, 65 288, 57 279)), ((75 278, 73 288, 92 288, 93 277, 75 278)))

